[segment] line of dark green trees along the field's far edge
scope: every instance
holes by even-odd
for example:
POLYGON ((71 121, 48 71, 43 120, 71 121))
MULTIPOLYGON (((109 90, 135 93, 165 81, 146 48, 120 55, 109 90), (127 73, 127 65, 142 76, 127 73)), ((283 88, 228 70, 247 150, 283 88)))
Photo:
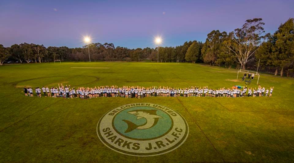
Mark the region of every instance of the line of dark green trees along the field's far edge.
POLYGON ((261 18, 246 20, 242 27, 229 33, 213 30, 204 43, 184 42, 176 47, 128 49, 112 43, 91 43, 81 48, 45 47, 36 44, 0 45, 0 64, 6 60, 19 63, 62 61, 142 61, 206 63, 237 69, 256 69, 294 75, 294 19, 289 18, 273 34, 264 31, 261 18))

